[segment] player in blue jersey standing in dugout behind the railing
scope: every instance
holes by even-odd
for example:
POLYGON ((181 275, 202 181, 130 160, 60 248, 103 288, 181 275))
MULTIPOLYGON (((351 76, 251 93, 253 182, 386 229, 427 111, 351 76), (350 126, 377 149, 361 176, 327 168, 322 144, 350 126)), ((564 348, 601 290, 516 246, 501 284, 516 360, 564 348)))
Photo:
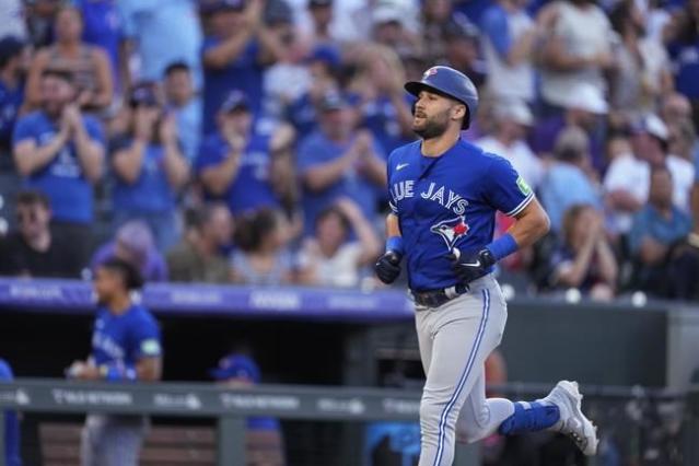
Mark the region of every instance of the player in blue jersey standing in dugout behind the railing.
MULTIPOLYGON (((89 381, 153 382, 161 377, 160 329, 152 314, 131 300, 141 288, 138 270, 108 259, 95 272, 100 308, 92 335, 92 356, 75 361, 68 376, 89 381)), ((83 466, 137 466, 145 434, 143 416, 88 415, 82 432, 83 466)))

